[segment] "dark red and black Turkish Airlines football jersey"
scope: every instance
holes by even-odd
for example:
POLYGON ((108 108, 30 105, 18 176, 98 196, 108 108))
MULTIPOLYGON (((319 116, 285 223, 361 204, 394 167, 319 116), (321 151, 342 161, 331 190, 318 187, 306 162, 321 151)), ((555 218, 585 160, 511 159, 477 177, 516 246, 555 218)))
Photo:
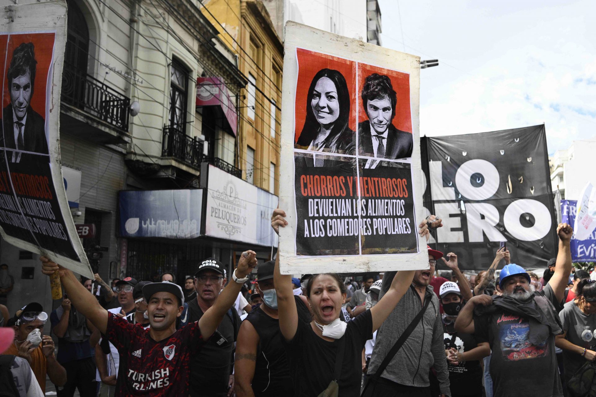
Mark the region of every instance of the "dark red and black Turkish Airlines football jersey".
POLYGON ((120 353, 115 396, 188 396, 190 358, 203 345, 198 322, 156 341, 149 329, 110 313, 106 334, 120 353))

